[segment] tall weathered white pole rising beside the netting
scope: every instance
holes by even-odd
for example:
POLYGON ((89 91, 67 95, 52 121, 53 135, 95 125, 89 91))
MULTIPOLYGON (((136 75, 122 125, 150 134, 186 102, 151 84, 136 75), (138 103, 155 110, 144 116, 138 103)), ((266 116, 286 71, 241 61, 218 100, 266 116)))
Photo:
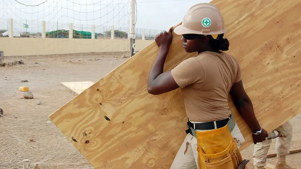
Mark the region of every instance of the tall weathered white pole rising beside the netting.
POLYGON ((136 11, 136 0, 131 0, 131 10, 130 10, 130 42, 131 42, 131 57, 136 54, 135 52, 135 17, 136 11))

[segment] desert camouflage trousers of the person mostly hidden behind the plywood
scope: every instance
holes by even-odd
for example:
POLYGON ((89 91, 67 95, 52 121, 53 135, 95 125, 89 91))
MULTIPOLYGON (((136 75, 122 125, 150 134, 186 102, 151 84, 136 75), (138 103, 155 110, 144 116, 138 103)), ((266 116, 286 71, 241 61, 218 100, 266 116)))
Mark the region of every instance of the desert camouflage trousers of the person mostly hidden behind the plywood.
MULTIPOLYGON (((292 141, 292 125, 289 121, 282 124, 276 130, 281 132, 281 135, 276 138, 275 151, 278 155, 289 154, 289 146, 292 141)), ((254 166, 262 167, 266 165, 267 154, 271 146, 272 140, 266 139, 261 143, 257 143, 254 146, 254 166)))

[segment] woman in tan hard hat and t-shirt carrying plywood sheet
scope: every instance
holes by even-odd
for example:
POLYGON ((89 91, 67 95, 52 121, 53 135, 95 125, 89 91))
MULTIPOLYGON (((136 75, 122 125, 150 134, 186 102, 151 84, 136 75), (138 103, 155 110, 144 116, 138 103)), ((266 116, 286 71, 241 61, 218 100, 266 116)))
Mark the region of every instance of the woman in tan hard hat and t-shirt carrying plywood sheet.
MULTIPOLYGON (((253 105, 244 91, 238 62, 233 56, 223 52, 229 47, 229 41, 223 38, 225 32, 219 9, 209 3, 200 3, 188 10, 182 25, 174 30, 171 27, 169 33, 164 31, 156 35, 159 53, 149 73, 147 90, 150 94, 157 95, 181 88, 189 118, 187 136, 171 169, 200 168, 197 146, 203 139, 199 141, 196 138, 197 131, 215 131, 227 125, 230 136, 232 135, 240 148, 244 138, 231 116, 227 101, 229 93, 238 112, 253 132, 254 144, 268 137, 267 132, 260 127, 253 105), (172 31, 183 35, 181 40, 186 52, 198 52, 198 55, 182 61, 170 71, 163 72, 173 38, 172 31)), ((210 167, 207 166, 208 168, 210 167)))

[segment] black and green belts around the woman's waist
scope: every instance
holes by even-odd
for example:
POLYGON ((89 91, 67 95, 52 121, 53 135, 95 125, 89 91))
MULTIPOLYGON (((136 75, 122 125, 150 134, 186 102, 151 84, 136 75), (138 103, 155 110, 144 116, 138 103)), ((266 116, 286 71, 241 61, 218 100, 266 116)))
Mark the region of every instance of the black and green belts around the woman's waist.
POLYGON ((186 134, 190 133, 195 138, 197 137, 196 130, 214 130, 218 128, 222 128, 224 126, 228 126, 230 133, 235 127, 236 122, 234 121, 234 118, 232 114, 229 116, 229 118, 222 119, 219 121, 208 121, 204 123, 191 123, 189 120, 187 122, 188 129, 186 130, 186 134))

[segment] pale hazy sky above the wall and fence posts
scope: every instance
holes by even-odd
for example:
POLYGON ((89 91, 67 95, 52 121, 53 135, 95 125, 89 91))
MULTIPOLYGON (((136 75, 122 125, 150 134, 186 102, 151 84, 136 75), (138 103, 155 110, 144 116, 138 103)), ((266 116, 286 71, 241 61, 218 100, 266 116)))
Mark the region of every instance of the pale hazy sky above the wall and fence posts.
MULTIPOLYGON (((154 34, 154 30, 167 30, 182 21, 188 8, 210 0, 136 0, 138 33, 154 34)), ((130 0, 0 0, 0 29, 9 28, 9 18, 14 19, 14 31, 41 32, 42 21, 46 31, 74 29, 103 32, 112 25, 115 30, 128 31, 130 0), (27 21, 26 21, 27 20, 27 21)), ((137 29, 136 29, 137 31, 137 29)))

